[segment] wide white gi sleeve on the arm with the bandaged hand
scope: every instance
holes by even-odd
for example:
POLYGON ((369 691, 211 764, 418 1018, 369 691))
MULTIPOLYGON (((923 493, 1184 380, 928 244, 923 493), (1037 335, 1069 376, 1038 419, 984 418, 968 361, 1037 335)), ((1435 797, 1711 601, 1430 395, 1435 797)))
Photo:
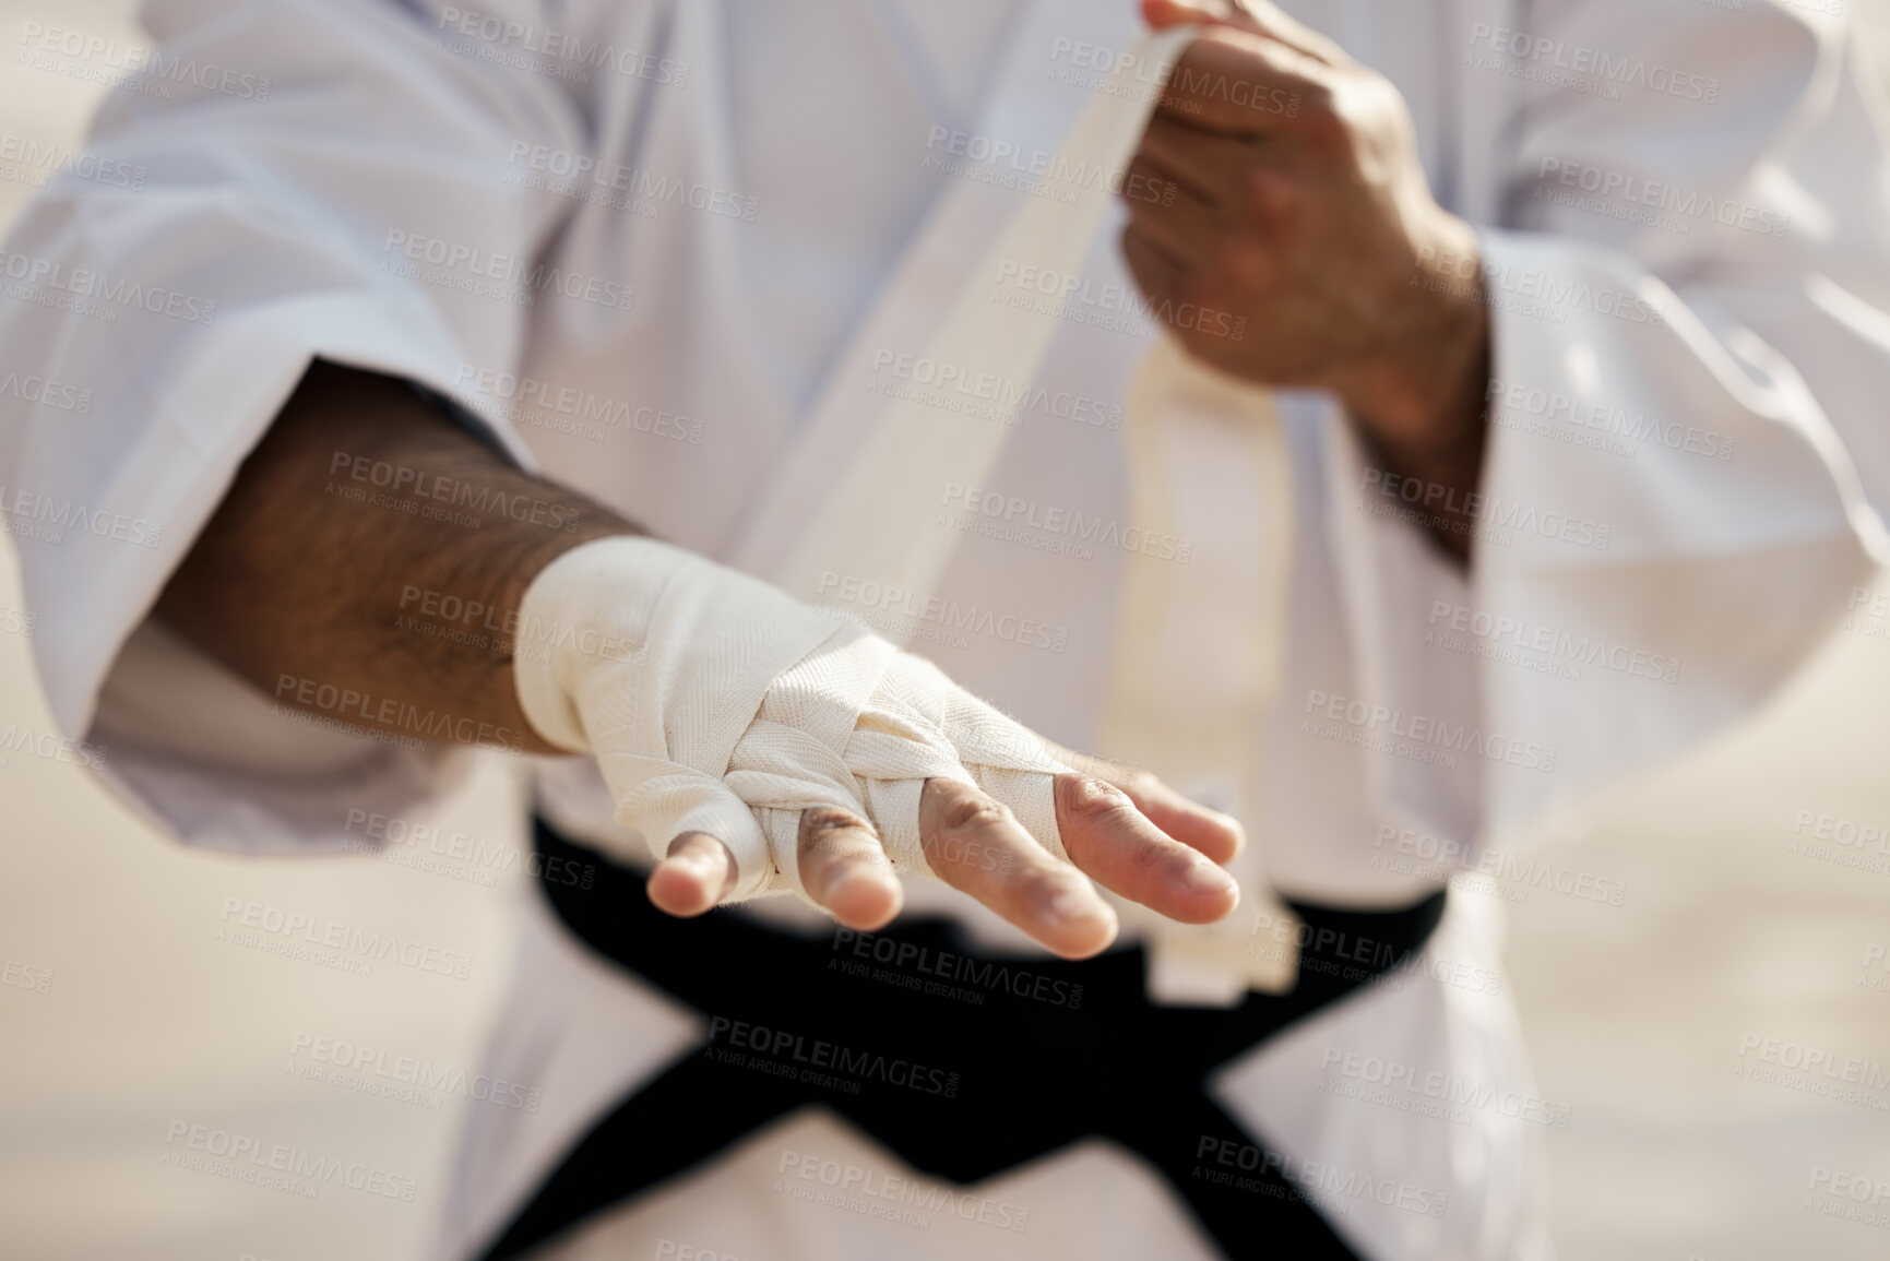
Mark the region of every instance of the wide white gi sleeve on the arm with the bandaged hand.
POLYGON ((0 391, 40 679, 60 730, 104 745, 87 764, 181 839, 346 841, 353 813, 412 805, 465 758, 312 724, 146 614, 314 357, 480 423, 467 382, 518 363, 569 206, 516 159, 586 147, 565 79, 516 47, 539 9, 484 0, 467 32, 391 0, 147 0, 155 51, 98 55, 129 78, 93 178, 51 183, 4 244, 4 367, 42 382, 0 391))

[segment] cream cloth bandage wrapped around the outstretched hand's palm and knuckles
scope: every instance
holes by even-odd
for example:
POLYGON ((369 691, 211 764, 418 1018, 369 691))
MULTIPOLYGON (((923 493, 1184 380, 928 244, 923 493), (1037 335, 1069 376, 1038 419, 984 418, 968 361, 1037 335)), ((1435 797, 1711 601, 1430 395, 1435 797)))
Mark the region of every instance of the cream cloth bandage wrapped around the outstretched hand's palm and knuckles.
MULTIPOLYGON (((595 754, 616 821, 662 858, 684 832, 735 856, 731 900, 807 898, 801 811, 849 809, 894 868, 932 875, 926 779, 973 783, 1051 855, 1051 777, 1036 735, 930 662, 739 571, 654 539, 597 539, 546 565, 522 622, 520 703, 550 743, 595 754)), ((809 900, 811 902, 811 900, 809 900)))

